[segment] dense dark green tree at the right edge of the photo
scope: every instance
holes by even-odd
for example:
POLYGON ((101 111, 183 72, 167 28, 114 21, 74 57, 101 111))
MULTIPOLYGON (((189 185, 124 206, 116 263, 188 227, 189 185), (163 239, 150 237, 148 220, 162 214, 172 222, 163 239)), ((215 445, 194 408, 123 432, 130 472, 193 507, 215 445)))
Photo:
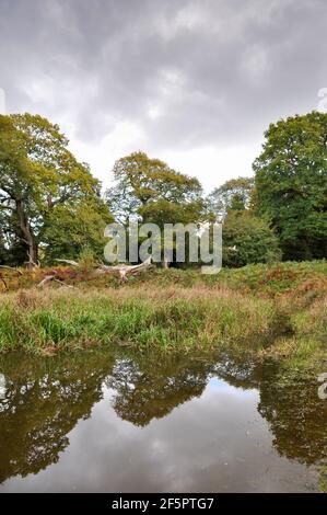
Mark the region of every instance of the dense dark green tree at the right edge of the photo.
POLYGON ((283 258, 327 256, 327 114, 271 124, 254 163, 256 198, 280 238, 283 258))

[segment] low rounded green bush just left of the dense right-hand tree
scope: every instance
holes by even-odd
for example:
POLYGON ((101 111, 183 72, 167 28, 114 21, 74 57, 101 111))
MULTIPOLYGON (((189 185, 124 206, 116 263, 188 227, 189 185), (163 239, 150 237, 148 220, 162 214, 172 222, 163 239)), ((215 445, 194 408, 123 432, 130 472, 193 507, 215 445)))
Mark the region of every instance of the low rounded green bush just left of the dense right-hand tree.
POLYGON ((230 210, 223 225, 223 264, 245 266, 279 261, 279 241, 268 224, 248 210, 230 210))

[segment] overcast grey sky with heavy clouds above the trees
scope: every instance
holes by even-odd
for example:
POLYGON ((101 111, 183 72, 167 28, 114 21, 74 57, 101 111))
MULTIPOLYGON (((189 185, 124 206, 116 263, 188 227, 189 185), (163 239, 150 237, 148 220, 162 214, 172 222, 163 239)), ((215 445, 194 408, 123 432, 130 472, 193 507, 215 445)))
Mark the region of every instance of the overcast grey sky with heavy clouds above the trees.
POLYGON ((141 149, 209 191, 252 174, 270 122, 317 108, 326 35, 326 0, 0 0, 0 88, 105 185, 141 149))

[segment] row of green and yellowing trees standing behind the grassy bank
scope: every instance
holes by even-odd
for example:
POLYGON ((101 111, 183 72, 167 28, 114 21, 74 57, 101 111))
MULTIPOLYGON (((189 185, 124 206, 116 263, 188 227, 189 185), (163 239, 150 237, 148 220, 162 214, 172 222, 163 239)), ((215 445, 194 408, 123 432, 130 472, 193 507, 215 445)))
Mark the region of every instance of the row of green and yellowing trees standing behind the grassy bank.
POLYGON ((227 266, 327 256, 327 114, 271 124, 254 178, 205 196, 199 181, 135 152, 101 183, 68 149, 57 125, 0 116, 0 263, 102 259, 104 228, 129 216, 143 222, 223 222, 227 266))

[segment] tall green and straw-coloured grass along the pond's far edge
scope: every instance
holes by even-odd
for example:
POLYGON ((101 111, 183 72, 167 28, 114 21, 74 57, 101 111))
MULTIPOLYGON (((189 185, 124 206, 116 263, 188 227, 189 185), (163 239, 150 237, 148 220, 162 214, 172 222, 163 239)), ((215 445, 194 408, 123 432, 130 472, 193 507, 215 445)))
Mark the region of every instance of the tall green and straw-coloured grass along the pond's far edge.
POLYGON ((213 348, 269 334, 275 314, 269 299, 205 287, 22 290, 2 297, 0 350, 97 343, 213 348))

